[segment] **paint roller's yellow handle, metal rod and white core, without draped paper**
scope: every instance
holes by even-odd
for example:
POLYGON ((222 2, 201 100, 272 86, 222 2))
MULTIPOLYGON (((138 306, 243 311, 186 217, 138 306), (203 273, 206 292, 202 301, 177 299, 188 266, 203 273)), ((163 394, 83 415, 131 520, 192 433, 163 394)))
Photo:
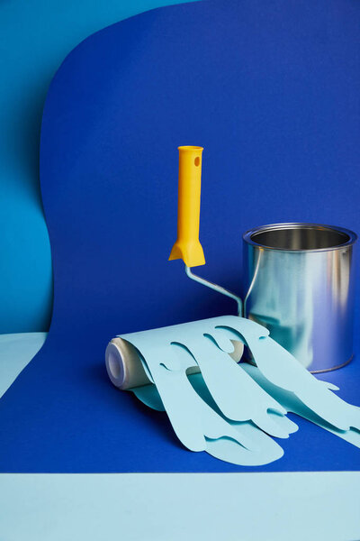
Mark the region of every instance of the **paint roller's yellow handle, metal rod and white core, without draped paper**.
MULTIPOLYGON (((171 250, 169 261, 182 259, 189 278, 218 291, 222 295, 233 298, 238 304, 238 315, 241 316, 242 301, 238 296, 228 289, 202 279, 191 271, 192 267, 205 264, 202 244, 199 240, 203 148, 200 146, 180 146, 178 151, 177 238, 171 250)), ((244 344, 235 340, 232 343, 234 351, 229 353, 229 356, 239 362, 244 351, 244 344)), ((108 344, 105 362, 112 383, 121 390, 151 383, 141 362, 139 351, 124 338, 113 338, 108 344)), ((192 374, 199 371, 199 367, 194 365, 188 369, 187 373, 192 374)))

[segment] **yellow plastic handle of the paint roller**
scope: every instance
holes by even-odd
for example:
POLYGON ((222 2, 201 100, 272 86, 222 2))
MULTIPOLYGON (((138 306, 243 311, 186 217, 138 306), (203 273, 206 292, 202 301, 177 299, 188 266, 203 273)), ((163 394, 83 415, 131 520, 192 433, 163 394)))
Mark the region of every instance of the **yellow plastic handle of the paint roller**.
POLYGON ((186 267, 205 264, 199 241, 202 147, 181 146, 179 150, 179 193, 177 239, 169 261, 182 259, 186 267))

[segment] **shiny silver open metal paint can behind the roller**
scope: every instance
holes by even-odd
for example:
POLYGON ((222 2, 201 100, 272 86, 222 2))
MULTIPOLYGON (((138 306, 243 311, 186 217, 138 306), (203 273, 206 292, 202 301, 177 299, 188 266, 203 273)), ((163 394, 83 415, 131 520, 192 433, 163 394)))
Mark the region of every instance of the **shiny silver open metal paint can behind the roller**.
POLYGON ((357 235, 343 227, 273 224, 243 235, 244 316, 313 372, 353 356, 357 235))

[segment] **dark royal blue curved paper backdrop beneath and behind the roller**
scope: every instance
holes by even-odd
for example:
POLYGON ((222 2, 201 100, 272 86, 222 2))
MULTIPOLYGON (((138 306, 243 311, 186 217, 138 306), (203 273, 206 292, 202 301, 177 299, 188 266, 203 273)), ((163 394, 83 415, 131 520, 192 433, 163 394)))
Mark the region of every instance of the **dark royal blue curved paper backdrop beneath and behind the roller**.
MULTIPOLYGON (((187 452, 164 415, 113 389, 104 347, 119 333, 235 312, 166 261, 178 144, 205 147, 202 272, 212 280, 239 289, 240 234, 253 225, 359 229, 359 15, 356 3, 322 0, 167 7, 67 57, 41 136, 54 316, 0 402, 2 471, 244 470, 187 452)), ((358 371, 354 362, 327 377, 354 403, 358 371)), ((284 458, 261 470, 359 469, 356 448, 299 426, 284 458)))

